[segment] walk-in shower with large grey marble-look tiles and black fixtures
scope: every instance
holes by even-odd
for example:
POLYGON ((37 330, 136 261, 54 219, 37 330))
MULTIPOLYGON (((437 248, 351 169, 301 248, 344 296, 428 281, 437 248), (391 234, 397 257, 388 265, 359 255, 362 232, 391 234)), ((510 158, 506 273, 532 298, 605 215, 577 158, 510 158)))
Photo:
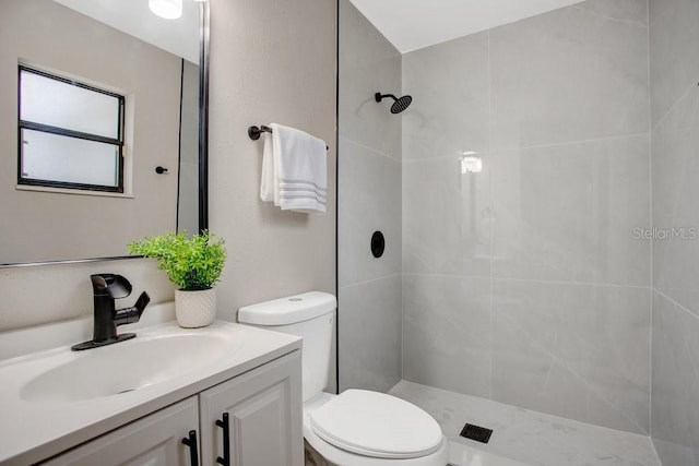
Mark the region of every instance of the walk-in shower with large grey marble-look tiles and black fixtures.
POLYGON ((699 240, 654 235, 699 225, 699 1, 449 40, 376 3, 339 3, 339 390, 427 410, 459 466, 699 466, 699 240))

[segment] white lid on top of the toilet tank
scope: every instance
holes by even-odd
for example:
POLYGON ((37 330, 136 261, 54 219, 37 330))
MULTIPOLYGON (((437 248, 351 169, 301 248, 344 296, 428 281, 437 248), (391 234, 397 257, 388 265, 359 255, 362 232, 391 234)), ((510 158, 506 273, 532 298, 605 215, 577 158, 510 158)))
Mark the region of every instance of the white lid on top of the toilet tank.
POLYGON ((337 307, 329 292, 310 291, 246 306, 238 310, 238 322, 253 325, 288 325, 332 312, 337 307))

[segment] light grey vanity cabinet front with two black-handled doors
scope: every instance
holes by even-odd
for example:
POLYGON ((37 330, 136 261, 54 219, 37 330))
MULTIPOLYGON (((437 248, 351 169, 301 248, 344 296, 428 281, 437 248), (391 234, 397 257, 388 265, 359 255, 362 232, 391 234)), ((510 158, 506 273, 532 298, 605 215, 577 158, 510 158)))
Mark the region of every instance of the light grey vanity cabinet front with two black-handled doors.
POLYGON ((300 363, 300 351, 295 350, 43 464, 301 466, 300 363), (196 458, 182 443, 191 442, 191 431, 196 458))

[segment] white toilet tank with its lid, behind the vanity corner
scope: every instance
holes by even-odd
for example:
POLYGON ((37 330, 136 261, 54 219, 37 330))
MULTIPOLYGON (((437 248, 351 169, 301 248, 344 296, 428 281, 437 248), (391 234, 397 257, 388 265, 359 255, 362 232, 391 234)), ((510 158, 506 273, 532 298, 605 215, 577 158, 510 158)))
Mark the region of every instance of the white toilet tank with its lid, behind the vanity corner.
POLYGON ((304 338, 301 358, 304 402, 318 395, 330 380, 330 354, 337 301, 310 291, 238 310, 238 322, 304 338))

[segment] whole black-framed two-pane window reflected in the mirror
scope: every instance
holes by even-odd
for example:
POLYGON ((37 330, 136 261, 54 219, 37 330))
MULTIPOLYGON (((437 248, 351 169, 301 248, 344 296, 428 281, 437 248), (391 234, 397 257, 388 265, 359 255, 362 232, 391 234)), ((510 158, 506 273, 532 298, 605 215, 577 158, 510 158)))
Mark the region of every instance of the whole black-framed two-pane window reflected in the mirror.
POLYGON ((125 97, 20 65, 17 183, 123 192, 125 97))

